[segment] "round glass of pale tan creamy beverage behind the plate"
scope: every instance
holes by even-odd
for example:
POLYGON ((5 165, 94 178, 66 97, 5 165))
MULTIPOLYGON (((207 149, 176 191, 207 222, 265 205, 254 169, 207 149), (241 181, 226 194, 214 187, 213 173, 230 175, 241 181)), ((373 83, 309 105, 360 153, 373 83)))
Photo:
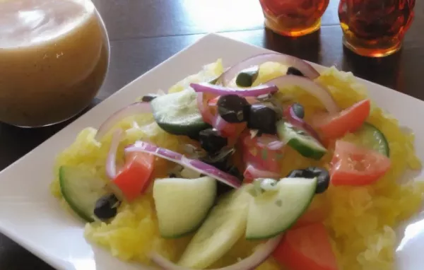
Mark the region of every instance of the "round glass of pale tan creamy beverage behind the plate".
POLYGON ((90 0, 0 0, 0 122, 43 127, 90 105, 110 45, 90 0))

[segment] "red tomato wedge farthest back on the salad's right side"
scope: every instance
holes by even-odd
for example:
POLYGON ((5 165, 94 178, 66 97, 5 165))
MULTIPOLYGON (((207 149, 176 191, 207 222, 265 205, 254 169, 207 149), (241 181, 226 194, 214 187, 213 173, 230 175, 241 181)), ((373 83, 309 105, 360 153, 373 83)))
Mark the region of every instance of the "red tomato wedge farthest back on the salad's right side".
POLYGON ((312 125, 326 139, 338 139, 359 129, 370 115, 370 110, 370 100, 362 100, 336 114, 317 115, 312 120, 312 125))

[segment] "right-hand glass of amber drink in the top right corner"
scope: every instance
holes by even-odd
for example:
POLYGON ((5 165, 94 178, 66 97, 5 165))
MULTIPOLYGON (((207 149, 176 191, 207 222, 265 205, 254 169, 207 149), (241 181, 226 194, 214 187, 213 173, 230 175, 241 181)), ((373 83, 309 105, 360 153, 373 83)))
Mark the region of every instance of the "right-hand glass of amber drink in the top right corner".
POLYGON ((413 20, 415 0, 341 0, 343 43, 367 57, 397 52, 413 20))

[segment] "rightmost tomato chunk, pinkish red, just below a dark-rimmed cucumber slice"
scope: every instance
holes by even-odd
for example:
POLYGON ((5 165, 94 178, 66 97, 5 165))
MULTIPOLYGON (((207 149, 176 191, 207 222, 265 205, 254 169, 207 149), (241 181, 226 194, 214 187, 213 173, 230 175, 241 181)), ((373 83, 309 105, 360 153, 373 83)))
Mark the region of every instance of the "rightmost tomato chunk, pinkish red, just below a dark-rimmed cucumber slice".
POLYGON ((390 159, 386 155, 347 141, 336 141, 330 168, 331 184, 372 184, 389 170, 390 165, 390 159))

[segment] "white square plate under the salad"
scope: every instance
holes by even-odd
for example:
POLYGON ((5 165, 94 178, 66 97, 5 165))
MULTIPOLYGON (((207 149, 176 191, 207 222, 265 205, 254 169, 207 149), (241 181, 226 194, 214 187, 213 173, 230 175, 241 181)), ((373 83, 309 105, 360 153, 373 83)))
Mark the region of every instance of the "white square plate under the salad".
MULTIPOLYGON (((115 270, 146 269, 120 262, 104 250, 91 246, 83 237, 83 223, 61 209, 49 193, 54 158, 69 146, 81 129, 99 127, 105 117, 144 93, 167 89, 194 74, 204 64, 222 58, 225 66, 268 50, 220 35, 206 35, 148 73, 137 78, 107 100, 76 119, 49 140, 0 172, 0 231, 57 269, 115 270)), ((322 70, 324 67, 314 65, 322 70)), ((375 83, 361 80, 377 104, 411 129, 418 139, 416 149, 424 160, 424 102, 375 83), (417 117, 412 117, 416 115, 417 117)), ((397 254, 400 270, 424 269, 424 215, 402 228, 405 235, 397 254), (406 230, 405 230, 406 228, 406 230)), ((377 269, 376 269, 377 270, 377 269)))

